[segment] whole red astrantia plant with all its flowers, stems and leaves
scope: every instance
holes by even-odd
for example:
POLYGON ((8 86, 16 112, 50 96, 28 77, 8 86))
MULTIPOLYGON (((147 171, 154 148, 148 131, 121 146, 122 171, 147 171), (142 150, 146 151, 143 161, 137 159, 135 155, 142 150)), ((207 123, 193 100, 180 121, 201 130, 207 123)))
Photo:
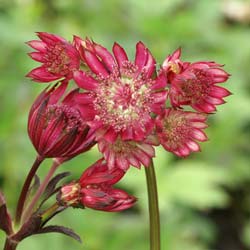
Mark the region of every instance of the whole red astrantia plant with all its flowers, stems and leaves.
POLYGON ((200 151, 200 142, 207 140, 208 116, 230 95, 217 85, 227 81, 229 74, 212 61, 182 61, 180 49, 157 68, 142 42, 129 59, 117 43, 111 53, 89 38, 74 36, 70 43, 46 32, 37 35, 39 40, 27 44, 36 50, 30 57, 42 65, 27 76, 36 82, 57 83, 42 91, 29 113, 28 134, 37 157, 24 181, 15 218, 0 192, 4 250, 16 249, 33 234, 58 232, 80 240, 72 229, 48 225, 69 207, 108 212, 132 207, 136 198, 114 187, 130 166, 145 167, 150 249, 159 250, 154 148, 162 145, 178 157, 200 151), (58 167, 95 144, 103 157, 79 179, 59 185, 69 173, 54 176, 58 167), (39 181, 36 172, 46 158, 52 158, 52 166, 39 181), (48 199, 54 199, 54 204, 48 199))

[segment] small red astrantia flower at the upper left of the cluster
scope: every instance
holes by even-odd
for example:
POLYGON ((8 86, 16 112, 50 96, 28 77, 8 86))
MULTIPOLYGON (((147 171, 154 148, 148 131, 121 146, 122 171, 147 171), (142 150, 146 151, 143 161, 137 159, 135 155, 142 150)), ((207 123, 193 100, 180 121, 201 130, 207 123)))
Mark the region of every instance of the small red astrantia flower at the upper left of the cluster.
POLYGON ((41 40, 32 40, 27 44, 37 50, 29 55, 42 66, 31 70, 27 76, 36 82, 71 79, 73 72, 80 67, 77 49, 60 36, 46 32, 38 32, 37 35, 41 40))

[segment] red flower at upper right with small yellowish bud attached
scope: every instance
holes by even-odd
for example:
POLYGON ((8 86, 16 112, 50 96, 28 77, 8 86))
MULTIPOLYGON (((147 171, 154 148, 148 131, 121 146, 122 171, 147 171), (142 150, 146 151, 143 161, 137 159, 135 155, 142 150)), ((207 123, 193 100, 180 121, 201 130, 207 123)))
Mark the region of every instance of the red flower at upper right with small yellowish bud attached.
POLYGON ((216 84, 227 81, 229 74, 215 62, 182 62, 177 50, 166 58, 162 70, 170 84, 170 100, 174 107, 190 105, 199 112, 216 111, 215 105, 223 104, 230 95, 216 84))

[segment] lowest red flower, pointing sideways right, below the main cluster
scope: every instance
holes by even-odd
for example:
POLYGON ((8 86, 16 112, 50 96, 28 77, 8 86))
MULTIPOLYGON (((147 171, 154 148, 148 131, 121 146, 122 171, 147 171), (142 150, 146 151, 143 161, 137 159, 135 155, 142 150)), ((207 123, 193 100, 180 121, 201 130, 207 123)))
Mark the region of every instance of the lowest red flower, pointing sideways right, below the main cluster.
POLYGON ((116 212, 134 205, 136 198, 121 189, 113 188, 125 172, 119 168, 109 169, 103 159, 87 168, 80 180, 61 188, 59 203, 73 207, 116 212))

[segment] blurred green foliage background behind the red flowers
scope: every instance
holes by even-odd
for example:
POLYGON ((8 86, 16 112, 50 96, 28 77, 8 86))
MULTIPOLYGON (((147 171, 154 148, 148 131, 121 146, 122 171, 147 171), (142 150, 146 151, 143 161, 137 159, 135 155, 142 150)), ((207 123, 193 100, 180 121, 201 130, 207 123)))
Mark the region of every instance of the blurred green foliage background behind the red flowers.
MULTIPOLYGON (((250 249, 250 1, 0 0, 0 188, 12 212, 36 155, 26 133, 28 111, 45 86, 24 77, 37 65, 24 44, 35 31, 68 40, 89 36, 109 49, 117 41, 131 59, 142 40, 159 64, 179 46, 184 60, 225 64, 232 76, 224 86, 233 95, 209 118, 202 152, 177 159, 157 150, 162 249, 250 249)), ((93 149, 61 171, 78 178, 98 157, 93 149)), ((68 209, 51 222, 74 228, 82 245, 47 234, 19 249, 149 249, 143 169, 130 169, 120 187, 139 198, 135 208, 116 214, 68 209)), ((3 241, 0 232, 0 248, 3 241)))

